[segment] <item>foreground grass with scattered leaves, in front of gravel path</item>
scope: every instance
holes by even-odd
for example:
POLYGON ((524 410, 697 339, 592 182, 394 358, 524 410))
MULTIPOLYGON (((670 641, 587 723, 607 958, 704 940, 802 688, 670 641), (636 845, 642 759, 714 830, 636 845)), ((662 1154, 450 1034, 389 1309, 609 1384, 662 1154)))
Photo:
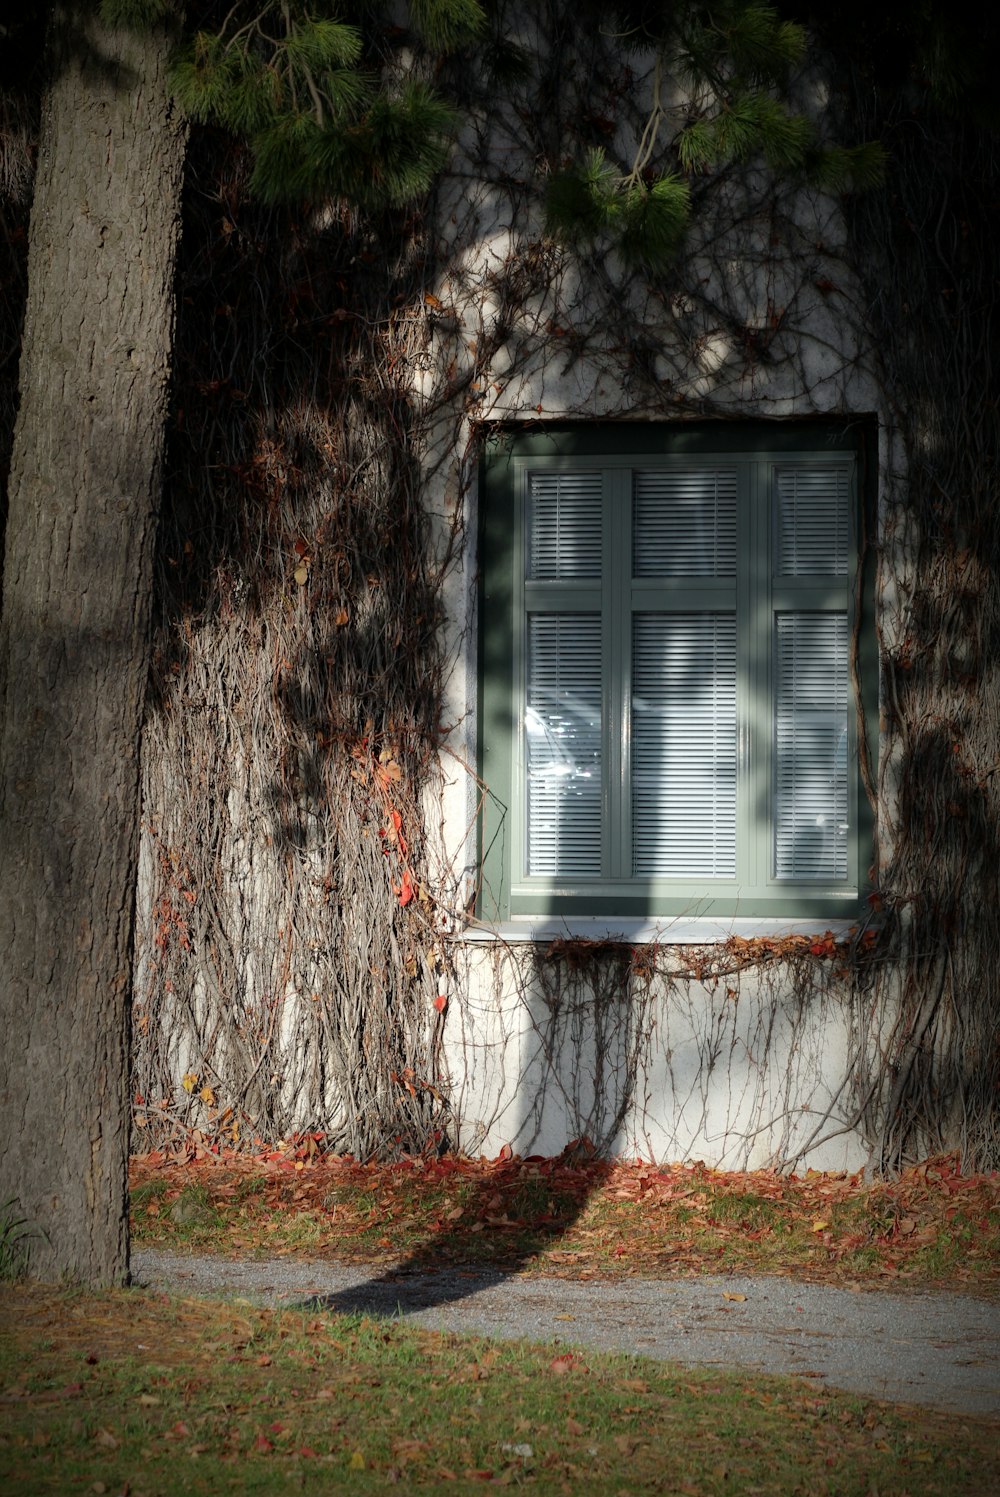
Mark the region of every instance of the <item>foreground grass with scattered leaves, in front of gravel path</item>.
POLYGON ((0 1289, 7 1491, 963 1494, 996 1425, 359 1317, 0 1289))

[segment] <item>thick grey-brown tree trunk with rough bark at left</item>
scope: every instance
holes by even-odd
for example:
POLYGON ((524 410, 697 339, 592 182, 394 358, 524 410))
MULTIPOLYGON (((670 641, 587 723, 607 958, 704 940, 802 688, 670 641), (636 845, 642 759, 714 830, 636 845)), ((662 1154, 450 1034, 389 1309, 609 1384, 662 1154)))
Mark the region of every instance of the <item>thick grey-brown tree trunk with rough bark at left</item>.
POLYGON ((139 731, 184 126, 162 34, 52 21, 0 621, 0 1205, 127 1277, 139 731))

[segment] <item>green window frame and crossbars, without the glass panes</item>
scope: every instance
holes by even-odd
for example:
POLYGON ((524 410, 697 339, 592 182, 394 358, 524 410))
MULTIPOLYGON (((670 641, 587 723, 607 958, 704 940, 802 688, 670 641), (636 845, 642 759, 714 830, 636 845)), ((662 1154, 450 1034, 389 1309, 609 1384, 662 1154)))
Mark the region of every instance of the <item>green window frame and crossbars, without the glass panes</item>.
MULTIPOLYGON (((843 921, 856 918, 868 892, 865 868, 871 847, 871 807, 864 790, 858 753, 858 683, 867 689, 877 677, 874 609, 867 576, 870 530, 868 452, 876 440, 870 419, 846 422, 692 422, 620 425, 546 425, 494 428, 487 439, 482 467, 481 506, 481 608, 479 608, 479 774, 487 786, 479 822, 481 889, 476 915, 487 922, 545 918, 594 919, 713 919, 792 918, 843 921), (765 475, 789 460, 841 463, 852 473, 850 560, 837 597, 817 596, 816 579, 775 581, 771 501, 765 475), (624 620, 639 612, 636 597, 654 602, 665 584, 660 578, 636 579, 632 566, 632 503, 627 475, 633 467, 740 466, 737 504, 737 578, 734 584, 699 578, 675 590, 732 599, 737 609, 737 876, 735 879, 636 879, 623 877, 630 847, 630 781, 627 689, 618 689, 614 672, 603 669, 603 744, 608 759, 602 795, 602 825, 611 828, 614 849, 600 877, 542 877, 524 870, 524 641, 525 603, 533 596, 540 611, 582 606, 596 588, 566 584, 525 582, 524 554, 527 473, 537 469, 594 469, 605 485, 617 485, 614 504, 603 510, 603 554, 609 578, 596 587, 603 609, 602 657, 624 662, 630 675, 630 629, 624 620), (617 504, 617 507, 615 507, 617 504), (621 594, 629 593, 627 606, 621 594), (549 602, 546 602, 549 599, 549 602), (858 648, 847 707, 847 757, 856 766, 849 775, 849 855, 846 880, 789 882, 774 876, 774 618, 780 603, 804 612, 847 612, 858 648), (765 722, 766 719, 766 722, 765 722), (623 772, 624 756, 624 772, 623 772), (753 801, 763 804, 760 816, 753 801), (617 874, 617 876, 615 876, 617 874)), ((695 599, 693 599, 695 600, 695 599)), ((648 609, 654 612, 654 608, 648 609)), ((864 699, 865 738, 876 743, 873 692, 864 699)), ((605 849, 608 855, 608 849, 605 849)))

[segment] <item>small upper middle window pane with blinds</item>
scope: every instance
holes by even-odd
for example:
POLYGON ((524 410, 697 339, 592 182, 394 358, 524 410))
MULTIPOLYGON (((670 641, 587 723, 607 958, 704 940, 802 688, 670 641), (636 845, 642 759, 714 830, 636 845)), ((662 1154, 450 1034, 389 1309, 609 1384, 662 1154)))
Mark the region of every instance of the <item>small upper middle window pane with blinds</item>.
POLYGON ((735 469, 638 472, 632 513, 633 576, 735 575, 735 469))

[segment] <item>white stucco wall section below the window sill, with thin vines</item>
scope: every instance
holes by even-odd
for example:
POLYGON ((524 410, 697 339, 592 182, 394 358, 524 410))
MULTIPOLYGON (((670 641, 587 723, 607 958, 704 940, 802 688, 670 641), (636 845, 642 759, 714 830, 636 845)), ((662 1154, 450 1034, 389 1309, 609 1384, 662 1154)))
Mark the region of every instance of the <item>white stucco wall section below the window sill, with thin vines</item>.
POLYGON ((446 1055, 467 1151, 557 1154, 588 1138, 626 1159, 726 1169, 865 1163, 844 1129, 846 1003, 783 991, 780 976, 744 978, 738 991, 633 979, 623 1003, 573 994, 560 1013, 551 984, 546 993, 519 957, 470 955, 451 1010, 446 1055))

